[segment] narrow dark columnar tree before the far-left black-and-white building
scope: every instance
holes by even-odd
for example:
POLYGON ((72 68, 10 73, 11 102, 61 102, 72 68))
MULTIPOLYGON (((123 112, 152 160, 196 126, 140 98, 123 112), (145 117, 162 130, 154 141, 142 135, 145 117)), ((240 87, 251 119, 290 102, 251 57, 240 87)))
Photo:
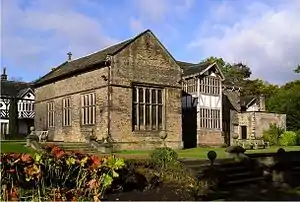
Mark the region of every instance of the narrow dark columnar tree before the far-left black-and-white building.
POLYGON ((18 128, 18 99, 12 97, 9 104, 9 135, 17 136, 18 128))

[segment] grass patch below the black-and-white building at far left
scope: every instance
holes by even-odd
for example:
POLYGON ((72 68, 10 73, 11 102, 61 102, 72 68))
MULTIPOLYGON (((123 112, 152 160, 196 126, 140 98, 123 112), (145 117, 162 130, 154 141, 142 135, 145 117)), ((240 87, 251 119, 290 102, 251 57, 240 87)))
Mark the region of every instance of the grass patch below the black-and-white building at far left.
POLYGON ((17 152, 33 154, 34 150, 25 146, 25 142, 1 142, 1 153, 17 152))

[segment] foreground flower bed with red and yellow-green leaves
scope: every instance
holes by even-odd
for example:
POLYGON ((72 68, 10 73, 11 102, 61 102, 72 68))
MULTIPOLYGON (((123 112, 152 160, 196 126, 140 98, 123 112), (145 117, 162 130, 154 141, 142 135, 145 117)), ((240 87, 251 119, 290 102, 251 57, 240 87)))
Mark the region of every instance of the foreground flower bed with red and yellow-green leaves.
POLYGON ((1 201, 199 200, 213 186, 199 181, 169 148, 150 159, 127 160, 66 153, 1 154, 1 201))

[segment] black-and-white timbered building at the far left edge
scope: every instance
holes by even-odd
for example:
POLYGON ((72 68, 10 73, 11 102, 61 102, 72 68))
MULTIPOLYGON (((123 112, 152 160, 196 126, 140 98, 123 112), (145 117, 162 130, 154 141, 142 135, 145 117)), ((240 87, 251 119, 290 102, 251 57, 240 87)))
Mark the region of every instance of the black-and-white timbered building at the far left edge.
POLYGON ((6 68, 1 74, 0 127, 1 136, 9 135, 9 107, 13 98, 17 99, 18 132, 27 135, 30 126, 34 125, 34 90, 30 83, 10 81, 7 79, 6 68))

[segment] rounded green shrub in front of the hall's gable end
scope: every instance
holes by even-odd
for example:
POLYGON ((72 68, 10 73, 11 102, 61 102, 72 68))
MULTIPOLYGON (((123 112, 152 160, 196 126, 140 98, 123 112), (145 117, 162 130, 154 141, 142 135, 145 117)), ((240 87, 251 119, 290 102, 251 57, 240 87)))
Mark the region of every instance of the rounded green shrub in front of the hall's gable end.
POLYGON ((178 154, 169 147, 156 148, 150 158, 153 164, 161 169, 168 169, 178 162, 178 154))

